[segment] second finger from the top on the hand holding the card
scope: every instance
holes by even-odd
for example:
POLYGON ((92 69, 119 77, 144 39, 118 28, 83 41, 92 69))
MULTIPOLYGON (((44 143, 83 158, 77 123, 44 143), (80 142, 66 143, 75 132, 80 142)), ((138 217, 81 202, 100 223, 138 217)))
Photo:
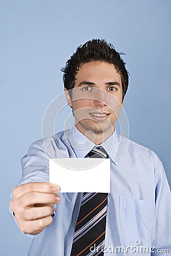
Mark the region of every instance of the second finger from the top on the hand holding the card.
POLYGON ((15 205, 20 208, 33 207, 36 204, 57 204, 61 200, 60 196, 52 193, 28 192, 15 200, 15 205))

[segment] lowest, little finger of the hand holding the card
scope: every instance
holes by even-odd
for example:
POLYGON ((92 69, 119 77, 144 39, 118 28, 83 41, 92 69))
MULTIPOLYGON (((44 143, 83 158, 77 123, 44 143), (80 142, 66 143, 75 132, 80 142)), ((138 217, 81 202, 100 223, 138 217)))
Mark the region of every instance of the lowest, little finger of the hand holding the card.
POLYGON ((38 220, 23 221, 22 225, 19 225, 19 229, 24 233, 34 235, 40 233, 46 226, 51 225, 52 221, 52 216, 39 218, 38 220))

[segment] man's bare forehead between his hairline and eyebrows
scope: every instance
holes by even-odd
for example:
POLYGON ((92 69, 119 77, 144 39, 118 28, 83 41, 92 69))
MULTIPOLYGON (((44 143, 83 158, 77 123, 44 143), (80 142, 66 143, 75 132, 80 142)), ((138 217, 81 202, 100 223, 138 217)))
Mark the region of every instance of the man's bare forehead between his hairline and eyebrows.
POLYGON ((84 63, 78 69, 76 74, 76 80, 82 78, 93 79, 99 77, 99 79, 109 77, 109 79, 120 80, 120 74, 116 71, 114 64, 106 61, 90 61, 84 63))

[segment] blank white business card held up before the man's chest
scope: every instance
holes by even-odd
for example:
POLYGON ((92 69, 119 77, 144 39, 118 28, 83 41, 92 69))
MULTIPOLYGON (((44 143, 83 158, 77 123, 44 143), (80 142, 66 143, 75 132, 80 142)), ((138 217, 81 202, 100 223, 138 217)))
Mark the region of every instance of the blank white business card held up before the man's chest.
POLYGON ((60 193, 110 193, 110 159, 49 159, 49 182, 60 186, 60 193))

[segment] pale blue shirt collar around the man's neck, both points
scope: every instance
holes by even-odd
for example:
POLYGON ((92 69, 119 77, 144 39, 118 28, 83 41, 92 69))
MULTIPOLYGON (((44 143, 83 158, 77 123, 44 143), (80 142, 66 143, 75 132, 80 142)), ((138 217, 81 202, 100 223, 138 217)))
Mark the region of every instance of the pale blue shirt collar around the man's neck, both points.
MULTIPOLYGON (((73 126, 73 128, 69 131, 68 140, 77 158, 84 158, 93 149, 93 147, 97 146, 90 141, 90 139, 85 137, 84 134, 78 131, 76 126, 73 126)), ((116 129, 114 133, 106 139, 106 141, 98 146, 105 148, 110 159, 115 163, 115 165, 117 165, 118 160, 116 160, 117 157, 115 155, 118 151, 119 139, 116 129)))

